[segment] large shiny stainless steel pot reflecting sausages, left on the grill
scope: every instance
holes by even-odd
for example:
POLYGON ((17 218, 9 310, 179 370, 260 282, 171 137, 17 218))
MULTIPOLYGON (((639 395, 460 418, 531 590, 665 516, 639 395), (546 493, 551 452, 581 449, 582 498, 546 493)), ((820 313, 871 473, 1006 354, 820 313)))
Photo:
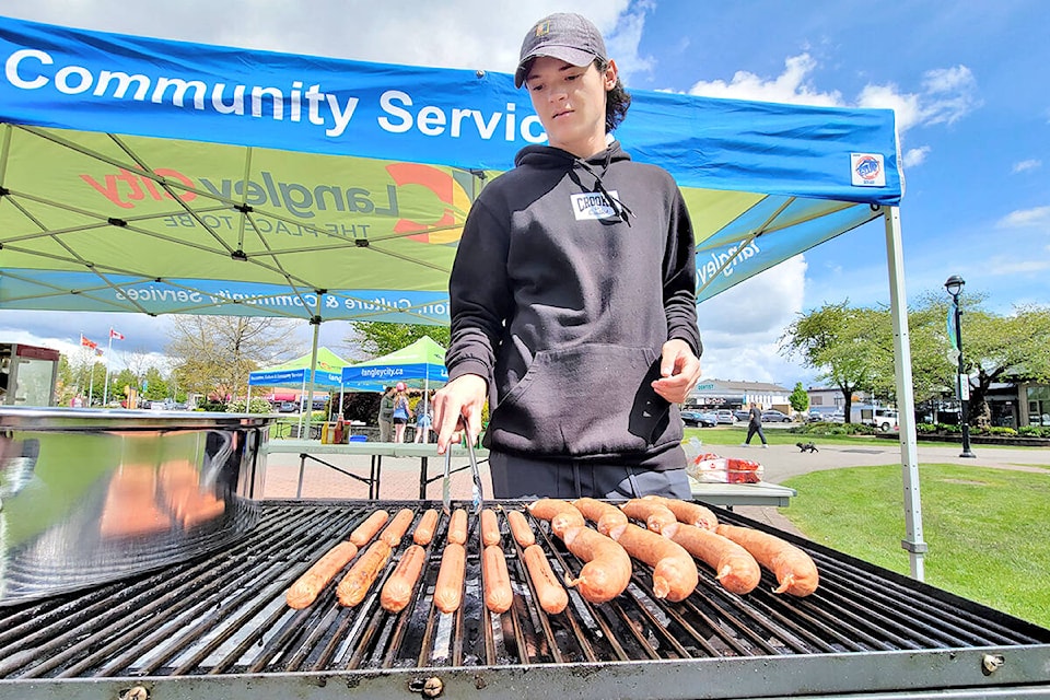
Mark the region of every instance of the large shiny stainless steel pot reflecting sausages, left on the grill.
POLYGON ((269 420, 0 409, 0 606, 243 536, 258 521, 269 420))

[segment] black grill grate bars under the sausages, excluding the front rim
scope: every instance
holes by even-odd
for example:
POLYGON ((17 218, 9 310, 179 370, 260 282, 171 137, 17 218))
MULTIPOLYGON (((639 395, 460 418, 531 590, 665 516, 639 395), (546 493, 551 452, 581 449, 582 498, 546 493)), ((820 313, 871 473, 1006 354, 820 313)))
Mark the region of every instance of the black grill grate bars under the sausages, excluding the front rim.
MULTIPOLYGON (((521 551, 501 515, 514 605, 483 608, 478 523, 470 517, 467 583, 458 612, 432 605, 447 518, 428 549, 413 602, 399 615, 378 604, 383 580, 354 608, 335 585, 307 609, 284 591, 376 508, 433 503, 268 501, 259 525, 226 550, 161 571, 60 597, 0 608, 0 681, 33 678, 180 677, 535 664, 608 664, 886 651, 957 650, 1050 643, 1050 631, 806 540, 777 533, 817 562, 821 583, 806 598, 774 595, 769 572, 752 593, 723 590, 701 563, 700 585, 681 603, 657 600, 652 570, 635 562, 627 594, 547 615, 533 603, 521 551)), ((505 506, 512 504, 503 503, 505 506)), ((730 511, 725 522, 763 528, 730 511)), ((556 574, 581 562, 532 521, 556 574)), ((411 532, 411 530, 409 530, 411 532)), ((770 530, 775 532, 775 530, 770 530)))

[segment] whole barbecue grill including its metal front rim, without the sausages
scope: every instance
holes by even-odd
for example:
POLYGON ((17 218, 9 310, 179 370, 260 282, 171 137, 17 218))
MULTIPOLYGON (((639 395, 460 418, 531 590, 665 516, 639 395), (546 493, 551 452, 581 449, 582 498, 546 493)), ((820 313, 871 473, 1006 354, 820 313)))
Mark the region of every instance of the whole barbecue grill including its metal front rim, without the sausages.
MULTIPOLYGON (((807 551, 817 592, 775 595, 763 571, 737 596, 700 563, 697 591, 668 603, 635 562, 611 603, 570 591, 565 611, 547 615, 503 517, 521 503, 488 505, 516 594, 503 615, 483 607, 472 514, 457 612, 432 604, 445 516, 402 612, 383 610, 378 593, 410 536, 359 606, 341 607, 334 582, 292 610, 288 586, 375 509, 410 508, 418 520, 440 503, 265 501, 256 528, 223 551, 0 608, 0 697, 1050 697, 1050 630, 721 509, 724 522, 807 551)), ((548 524, 530 522, 555 572, 579 573, 548 524)))

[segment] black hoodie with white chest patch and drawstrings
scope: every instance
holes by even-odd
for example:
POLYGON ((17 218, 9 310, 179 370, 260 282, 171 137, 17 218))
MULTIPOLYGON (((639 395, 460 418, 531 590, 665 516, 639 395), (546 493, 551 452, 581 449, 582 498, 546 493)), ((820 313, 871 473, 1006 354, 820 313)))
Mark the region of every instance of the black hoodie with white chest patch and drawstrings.
POLYGON ((615 142, 515 165, 471 207, 450 280, 448 378, 488 378, 486 446, 684 466, 678 409, 650 386, 668 339, 701 352, 681 192, 615 142))

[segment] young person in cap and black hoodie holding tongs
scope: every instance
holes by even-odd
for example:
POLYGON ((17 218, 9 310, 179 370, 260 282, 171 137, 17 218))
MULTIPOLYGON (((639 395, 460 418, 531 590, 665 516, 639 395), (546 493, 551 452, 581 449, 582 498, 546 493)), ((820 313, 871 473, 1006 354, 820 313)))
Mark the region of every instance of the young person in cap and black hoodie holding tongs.
POLYGON ((612 139, 630 105, 597 28, 557 13, 522 44, 549 145, 474 203, 450 280, 438 451, 481 427, 501 499, 689 499, 676 404, 700 377, 692 226, 670 175, 612 139))

